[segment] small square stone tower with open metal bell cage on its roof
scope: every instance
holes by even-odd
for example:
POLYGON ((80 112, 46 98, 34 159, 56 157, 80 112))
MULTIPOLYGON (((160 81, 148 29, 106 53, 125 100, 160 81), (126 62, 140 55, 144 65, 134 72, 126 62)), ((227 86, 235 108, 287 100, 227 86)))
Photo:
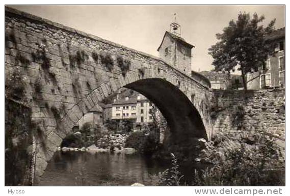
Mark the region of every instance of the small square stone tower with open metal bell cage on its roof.
POLYGON ((180 25, 172 22, 170 31, 165 32, 157 51, 159 51, 160 58, 166 63, 181 72, 191 75, 191 49, 193 47, 193 45, 181 38, 180 25))

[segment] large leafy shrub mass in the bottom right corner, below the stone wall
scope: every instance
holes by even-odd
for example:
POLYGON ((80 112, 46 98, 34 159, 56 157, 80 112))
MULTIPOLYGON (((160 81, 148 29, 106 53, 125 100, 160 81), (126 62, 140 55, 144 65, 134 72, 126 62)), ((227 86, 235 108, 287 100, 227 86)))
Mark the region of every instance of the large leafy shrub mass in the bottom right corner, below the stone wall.
POLYGON ((214 146, 209 148, 208 158, 215 165, 211 169, 199 172, 203 185, 282 185, 284 158, 274 139, 265 133, 238 132, 216 135, 214 146), (273 172, 276 171, 276 172, 273 172))

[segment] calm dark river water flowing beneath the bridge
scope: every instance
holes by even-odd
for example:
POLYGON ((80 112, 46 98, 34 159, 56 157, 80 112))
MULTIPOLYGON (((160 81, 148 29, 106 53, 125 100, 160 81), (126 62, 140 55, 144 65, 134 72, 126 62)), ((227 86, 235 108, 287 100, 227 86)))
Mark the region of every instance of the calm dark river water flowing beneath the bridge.
MULTIPOLYGON (((170 167, 170 162, 153 160, 134 154, 91 153, 80 151, 57 151, 48 162, 37 185, 131 185, 135 182, 155 185, 156 175, 170 167)), ((184 180, 190 181, 193 164, 180 168, 184 180)))

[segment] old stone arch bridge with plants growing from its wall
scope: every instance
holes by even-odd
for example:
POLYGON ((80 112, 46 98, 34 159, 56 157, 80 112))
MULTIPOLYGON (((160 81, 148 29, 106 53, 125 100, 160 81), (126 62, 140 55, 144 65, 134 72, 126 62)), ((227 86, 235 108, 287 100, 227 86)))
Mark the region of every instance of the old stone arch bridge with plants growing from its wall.
POLYGON ((73 126, 125 87, 148 97, 170 127, 168 144, 209 138, 209 81, 163 60, 28 13, 5 9, 6 96, 29 105, 36 176, 73 126))

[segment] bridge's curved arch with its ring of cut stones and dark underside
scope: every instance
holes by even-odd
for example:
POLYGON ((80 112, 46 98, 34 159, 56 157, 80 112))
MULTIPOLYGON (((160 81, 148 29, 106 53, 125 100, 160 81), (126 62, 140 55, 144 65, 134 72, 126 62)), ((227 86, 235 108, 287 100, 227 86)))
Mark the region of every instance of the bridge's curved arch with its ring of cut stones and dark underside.
MULTIPOLYGON (((128 72, 125 76, 120 74, 118 80, 111 79, 108 83, 102 83, 70 108, 61 120, 56 119, 55 131, 51 131, 46 137, 49 149, 44 148, 41 143, 37 148, 39 149, 36 157, 37 176, 42 175, 45 169, 43 165, 47 164, 47 161, 61 145, 62 139, 72 133, 77 122, 104 98, 115 94, 123 87, 145 95, 160 109, 170 128, 170 132, 165 135, 165 145, 178 146, 180 143, 191 143, 191 139, 195 138, 207 140, 208 134, 201 117, 202 113, 194 105, 197 101, 191 100, 192 97, 189 93, 184 93, 184 91, 192 92, 193 90, 181 86, 182 82, 185 82, 184 80, 173 79, 172 81, 175 82, 173 84, 164 77, 165 73, 161 73, 158 69, 155 70, 156 73, 148 69, 144 75, 136 75, 135 72, 128 72), (122 82, 116 85, 118 81, 122 82), (38 165, 41 166, 38 167, 38 165)), ((200 103, 202 105, 201 101, 200 103)))

